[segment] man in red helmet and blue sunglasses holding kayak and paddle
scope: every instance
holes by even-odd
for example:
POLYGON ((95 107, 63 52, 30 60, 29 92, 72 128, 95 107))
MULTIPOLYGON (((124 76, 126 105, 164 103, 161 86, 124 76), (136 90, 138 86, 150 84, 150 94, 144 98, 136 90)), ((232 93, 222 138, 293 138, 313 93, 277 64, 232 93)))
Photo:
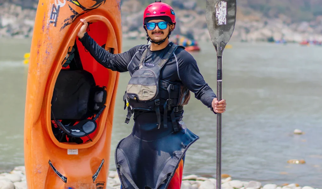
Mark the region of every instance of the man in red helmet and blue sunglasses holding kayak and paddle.
POLYGON ((155 2, 144 12, 143 27, 151 45, 138 45, 111 54, 87 33, 81 19, 78 37, 104 67, 132 76, 124 95, 126 122, 134 113, 132 133, 116 148, 115 162, 121 188, 180 189, 185 152, 199 139, 182 122, 183 105, 190 91, 213 113, 223 113, 226 101, 218 102, 204 81, 194 58, 169 42, 175 29, 175 12, 168 4, 155 2))

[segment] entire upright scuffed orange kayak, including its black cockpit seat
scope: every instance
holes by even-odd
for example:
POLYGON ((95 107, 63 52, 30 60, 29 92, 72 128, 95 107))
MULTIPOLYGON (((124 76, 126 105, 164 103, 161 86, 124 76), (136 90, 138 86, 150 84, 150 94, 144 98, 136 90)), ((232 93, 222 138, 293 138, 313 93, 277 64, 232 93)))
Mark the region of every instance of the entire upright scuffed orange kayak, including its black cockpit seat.
POLYGON ((80 19, 103 48, 122 49, 120 0, 39 1, 24 120, 29 189, 107 187, 119 73, 84 49, 80 19))

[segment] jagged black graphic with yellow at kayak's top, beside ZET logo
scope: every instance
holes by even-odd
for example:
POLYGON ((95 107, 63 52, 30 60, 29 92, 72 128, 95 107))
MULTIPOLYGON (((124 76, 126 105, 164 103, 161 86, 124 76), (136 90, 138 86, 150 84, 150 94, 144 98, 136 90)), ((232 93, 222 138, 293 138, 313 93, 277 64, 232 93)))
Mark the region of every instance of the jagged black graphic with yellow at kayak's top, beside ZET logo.
POLYGON ((61 27, 61 31, 62 31, 62 29, 64 29, 66 26, 68 26, 68 25, 70 25, 72 22, 74 22, 74 20, 77 18, 77 17, 79 17, 79 16, 81 16, 81 15, 83 15, 83 14, 85 14, 85 13, 88 13, 88 12, 90 12, 91 10, 94 10, 94 9, 97 9, 100 5, 102 5, 102 4, 105 4, 105 2, 106 2, 106 0, 92 0, 92 1, 94 1, 95 2, 95 4, 94 5, 92 5, 92 6, 90 6, 90 7, 85 7, 85 6, 83 6, 82 4, 80 4, 79 2, 78 2, 78 0, 67 0, 68 2, 71 2, 72 4, 75 4, 75 5, 77 5, 78 7, 80 7, 84 12, 83 13, 78 13, 77 11, 75 11, 75 9, 73 9, 72 7, 71 7, 71 5, 68 5, 69 6, 69 9, 71 10, 71 12, 72 12, 72 15, 71 16, 69 16, 68 18, 66 18, 65 20, 64 20, 64 22, 63 22, 63 26, 61 27))

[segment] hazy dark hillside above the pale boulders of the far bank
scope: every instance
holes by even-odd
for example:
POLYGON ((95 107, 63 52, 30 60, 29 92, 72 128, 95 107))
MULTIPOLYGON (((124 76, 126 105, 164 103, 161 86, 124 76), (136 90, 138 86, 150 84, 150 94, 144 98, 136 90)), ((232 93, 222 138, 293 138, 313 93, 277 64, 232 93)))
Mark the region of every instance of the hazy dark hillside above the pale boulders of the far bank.
MULTIPOLYGON (((20 5, 27 9, 36 9, 38 0, 2 0, 3 2, 10 2, 20 5)), ((62 0, 61 0, 62 1, 62 0)), ((121 0, 121 4, 130 0, 121 0)), ((138 0, 142 6, 146 6, 154 1, 138 0)), ((195 6, 205 8, 205 1, 191 0, 164 0, 163 2, 171 5, 179 5, 179 8, 195 6), (185 4, 185 5, 182 5, 185 4)), ((1 3, 0 3, 1 4, 1 3)), ((311 21, 315 17, 322 15, 322 1, 321 0, 237 0, 237 6, 242 9, 245 15, 254 12, 260 12, 268 18, 278 18, 281 14, 289 17, 292 22, 311 21)))

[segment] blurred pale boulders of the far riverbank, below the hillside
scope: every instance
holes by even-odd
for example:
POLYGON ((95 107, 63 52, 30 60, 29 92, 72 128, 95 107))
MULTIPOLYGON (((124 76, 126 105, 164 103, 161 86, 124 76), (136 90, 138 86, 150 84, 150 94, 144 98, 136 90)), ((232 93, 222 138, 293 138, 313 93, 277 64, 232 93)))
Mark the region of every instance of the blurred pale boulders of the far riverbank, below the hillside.
MULTIPOLYGON (((0 3, 1 4, 1 3, 0 3)), ((37 4, 33 9, 11 3, 0 6, 0 37, 29 38, 33 34, 37 4)), ((195 40, 209 40, 205 10, 195 1, 177 0, 172 3, 176 10, 177 25, 173 34, 191 33, 195 40)), ((125 1, 122 6, 123 37, 125 39, 146 38, 142 27, 144 6, 137 0, 125 1)), ((268 19, 261 13, 247 12, 238 8, 234 41, 302 40, 322 41, 322 16, 311 22, 292 23, 286 16, 268 19)))

